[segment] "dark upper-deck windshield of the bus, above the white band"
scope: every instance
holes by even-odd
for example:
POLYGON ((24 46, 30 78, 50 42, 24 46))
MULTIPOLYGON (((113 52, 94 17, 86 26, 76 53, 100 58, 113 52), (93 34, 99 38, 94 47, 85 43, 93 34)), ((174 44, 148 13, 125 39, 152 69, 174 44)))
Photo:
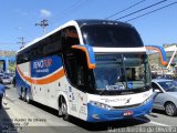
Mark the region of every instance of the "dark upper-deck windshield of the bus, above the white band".
POLYGON ((81 31, 84 43, 92 47, 143 47, 140 37, 133 27, 122 24, 87 24, 83 25, 81 31))

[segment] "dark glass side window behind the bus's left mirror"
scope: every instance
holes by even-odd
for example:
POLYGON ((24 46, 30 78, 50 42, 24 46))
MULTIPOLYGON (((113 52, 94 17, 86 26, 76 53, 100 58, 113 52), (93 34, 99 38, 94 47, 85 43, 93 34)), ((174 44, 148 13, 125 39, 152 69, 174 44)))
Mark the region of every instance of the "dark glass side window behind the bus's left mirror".
POLYGON ((82 91, 92 88, 92 78, 90 75, 85 58, 84 52, 80 50, 71 50, 64 54, 69 82, 82 91))

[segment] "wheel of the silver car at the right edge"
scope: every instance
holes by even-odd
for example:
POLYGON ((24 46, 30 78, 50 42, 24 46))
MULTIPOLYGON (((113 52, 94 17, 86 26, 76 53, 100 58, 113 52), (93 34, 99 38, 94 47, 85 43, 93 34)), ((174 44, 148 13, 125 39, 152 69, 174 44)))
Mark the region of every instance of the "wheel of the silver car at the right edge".
POLYGON ((165 104, 165 112, 169 116, 175 116, 177 114, 177 108, 173 102, 165 104))

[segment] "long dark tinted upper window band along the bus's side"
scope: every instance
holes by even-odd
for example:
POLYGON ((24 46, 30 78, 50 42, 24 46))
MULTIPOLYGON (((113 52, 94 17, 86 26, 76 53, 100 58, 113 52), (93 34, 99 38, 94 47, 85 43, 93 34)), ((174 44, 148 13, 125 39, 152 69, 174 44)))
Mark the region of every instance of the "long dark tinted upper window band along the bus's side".
POLYGON ((69 27, 19 52, 17 55, 17 63, 20 64, 58 54, 62 49, 70 49, 71 45, 79 43, 80 40, 76 29, 74 27, 69 27))

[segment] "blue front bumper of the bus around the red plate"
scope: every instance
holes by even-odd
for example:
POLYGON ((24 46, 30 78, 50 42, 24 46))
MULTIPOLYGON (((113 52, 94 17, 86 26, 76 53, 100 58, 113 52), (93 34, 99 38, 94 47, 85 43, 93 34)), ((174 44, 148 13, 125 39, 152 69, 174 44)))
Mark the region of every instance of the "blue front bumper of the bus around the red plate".
POLYGON ((153 106, 153 100, 148 101, 144 105, 139 105, 132 109, 123 110, 106 110, 91 103, 87 104, 87 121, 88 122, 106 122, 116 121, 123 119, 133 119, 142 115, 149 114, 153 106), (133 112, 131 115, 125 115, 125 112, 133 112))

